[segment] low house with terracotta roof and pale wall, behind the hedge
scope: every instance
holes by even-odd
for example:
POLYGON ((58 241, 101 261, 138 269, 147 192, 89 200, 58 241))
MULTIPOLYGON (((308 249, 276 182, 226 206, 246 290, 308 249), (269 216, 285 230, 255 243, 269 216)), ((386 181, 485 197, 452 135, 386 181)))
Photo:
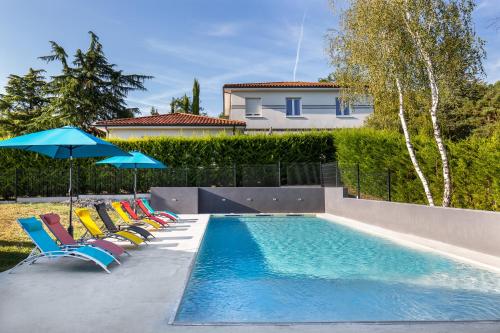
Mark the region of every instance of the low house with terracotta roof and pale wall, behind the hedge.
POLYGON ((107 138, 130 139, 151 136, 206 136, 243 133, 245 122, 186 113, 103 120, 95 127, 107 138))

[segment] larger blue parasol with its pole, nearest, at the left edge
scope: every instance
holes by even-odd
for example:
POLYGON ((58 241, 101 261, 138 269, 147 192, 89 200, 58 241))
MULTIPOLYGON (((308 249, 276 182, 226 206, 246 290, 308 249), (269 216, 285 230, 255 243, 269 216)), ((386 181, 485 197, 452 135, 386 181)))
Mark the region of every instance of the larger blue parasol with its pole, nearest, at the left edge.
POLYGON ((0 148, 15 148, 33 151, 52 158, 68 159, 69 164, 69 227, 68 232, 73 235, 73 158, 128 156, 115 145, 96 138, 81 129, 73 126, 50 129, 46 131, 21 135, 12 139, 0 141, 0 148))

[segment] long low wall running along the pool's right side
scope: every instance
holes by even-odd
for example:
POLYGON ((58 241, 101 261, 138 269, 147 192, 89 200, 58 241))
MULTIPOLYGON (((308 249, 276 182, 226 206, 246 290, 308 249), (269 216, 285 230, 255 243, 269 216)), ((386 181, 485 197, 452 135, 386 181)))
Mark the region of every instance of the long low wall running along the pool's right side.
POLYGON ((342 188, 325 188, 325 212, 500 256, 497 212, 352 199, 342 188))

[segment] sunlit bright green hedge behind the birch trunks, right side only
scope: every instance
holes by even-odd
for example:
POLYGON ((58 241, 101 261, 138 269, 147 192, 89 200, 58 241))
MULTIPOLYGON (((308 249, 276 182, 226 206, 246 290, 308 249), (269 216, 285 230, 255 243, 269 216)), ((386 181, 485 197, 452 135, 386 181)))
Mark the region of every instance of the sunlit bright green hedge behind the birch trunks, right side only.
MULTIPOLYGON (((403 137, 394 132, 371 129, 345 129, 334 133, 343 181, 356 187, 355 166, 359 164, 361 193, 385 198, 386 174, 391 170, 393 201, 426 203, 420 180, 411 165, 403 137)), ((437 205, 442 199, 441 163, 431 138, 413 138, 420 166, 430 182, 437 205)), ((499 210, 499 138, 469 138, 447 142, 453 183, 452 206, 499 210)))

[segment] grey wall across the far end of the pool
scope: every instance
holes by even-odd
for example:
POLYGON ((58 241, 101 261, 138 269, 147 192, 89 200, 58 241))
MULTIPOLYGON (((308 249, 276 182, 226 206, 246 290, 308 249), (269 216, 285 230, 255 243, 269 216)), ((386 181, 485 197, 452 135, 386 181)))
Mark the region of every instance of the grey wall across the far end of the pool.
POLYGON ((185 214, 322 213, 321 187, 153 187, 153 208, 185 214))

